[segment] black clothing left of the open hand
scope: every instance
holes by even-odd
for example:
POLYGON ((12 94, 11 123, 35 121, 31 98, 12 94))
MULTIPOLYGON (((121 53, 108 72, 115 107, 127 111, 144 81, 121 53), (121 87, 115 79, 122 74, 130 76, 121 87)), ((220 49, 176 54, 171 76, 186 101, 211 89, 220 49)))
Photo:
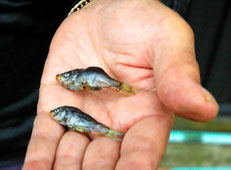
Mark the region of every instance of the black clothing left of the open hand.
POLYGON ((73 0, 0 0, 0 167, 24 159, 54 32, 73 0))

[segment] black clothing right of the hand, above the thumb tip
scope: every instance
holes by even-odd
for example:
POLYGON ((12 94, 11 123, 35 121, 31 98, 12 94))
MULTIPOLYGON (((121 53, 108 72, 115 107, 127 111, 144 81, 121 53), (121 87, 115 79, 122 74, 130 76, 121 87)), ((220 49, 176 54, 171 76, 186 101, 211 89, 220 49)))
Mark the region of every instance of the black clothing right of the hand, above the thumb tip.
POLYGON ((230 0, 162 1, 192 27, 202 85, 217 99, 219 115, 231 116, 230 0))

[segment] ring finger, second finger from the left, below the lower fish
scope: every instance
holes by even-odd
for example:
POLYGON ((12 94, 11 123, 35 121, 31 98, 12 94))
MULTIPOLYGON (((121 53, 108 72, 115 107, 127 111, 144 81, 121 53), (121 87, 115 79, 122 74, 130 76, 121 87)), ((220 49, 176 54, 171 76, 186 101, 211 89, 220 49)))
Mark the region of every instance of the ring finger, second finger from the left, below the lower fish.
POLYGON ((90 140, 77 132, 68 131, 62 137, 55 159, 55 170, 81 170, 85 150, 90 140))

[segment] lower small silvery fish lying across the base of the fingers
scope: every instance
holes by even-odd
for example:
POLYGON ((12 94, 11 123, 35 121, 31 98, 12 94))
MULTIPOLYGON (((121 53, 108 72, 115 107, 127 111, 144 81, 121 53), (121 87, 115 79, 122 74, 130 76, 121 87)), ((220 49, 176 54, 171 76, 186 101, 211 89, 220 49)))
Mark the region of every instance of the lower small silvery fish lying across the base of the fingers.
POLYGON ((101 134, 113 140, 121 141, 124 134, 112 130, 97 122, 94 118, 82 112, 78 108, 62 106, 50 111, 51 116, 61 125, 82 133, 101 134))

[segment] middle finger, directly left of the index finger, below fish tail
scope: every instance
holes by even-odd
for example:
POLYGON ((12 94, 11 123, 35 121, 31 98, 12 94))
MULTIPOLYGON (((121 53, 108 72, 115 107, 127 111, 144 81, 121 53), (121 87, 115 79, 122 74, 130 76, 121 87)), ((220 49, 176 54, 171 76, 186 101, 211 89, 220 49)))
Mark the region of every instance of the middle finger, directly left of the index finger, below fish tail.
POLYGON ((84 160, 84 170, 114 170, 119 158, 120 143, 107 137, 94 139, 88 146, 84 160))

